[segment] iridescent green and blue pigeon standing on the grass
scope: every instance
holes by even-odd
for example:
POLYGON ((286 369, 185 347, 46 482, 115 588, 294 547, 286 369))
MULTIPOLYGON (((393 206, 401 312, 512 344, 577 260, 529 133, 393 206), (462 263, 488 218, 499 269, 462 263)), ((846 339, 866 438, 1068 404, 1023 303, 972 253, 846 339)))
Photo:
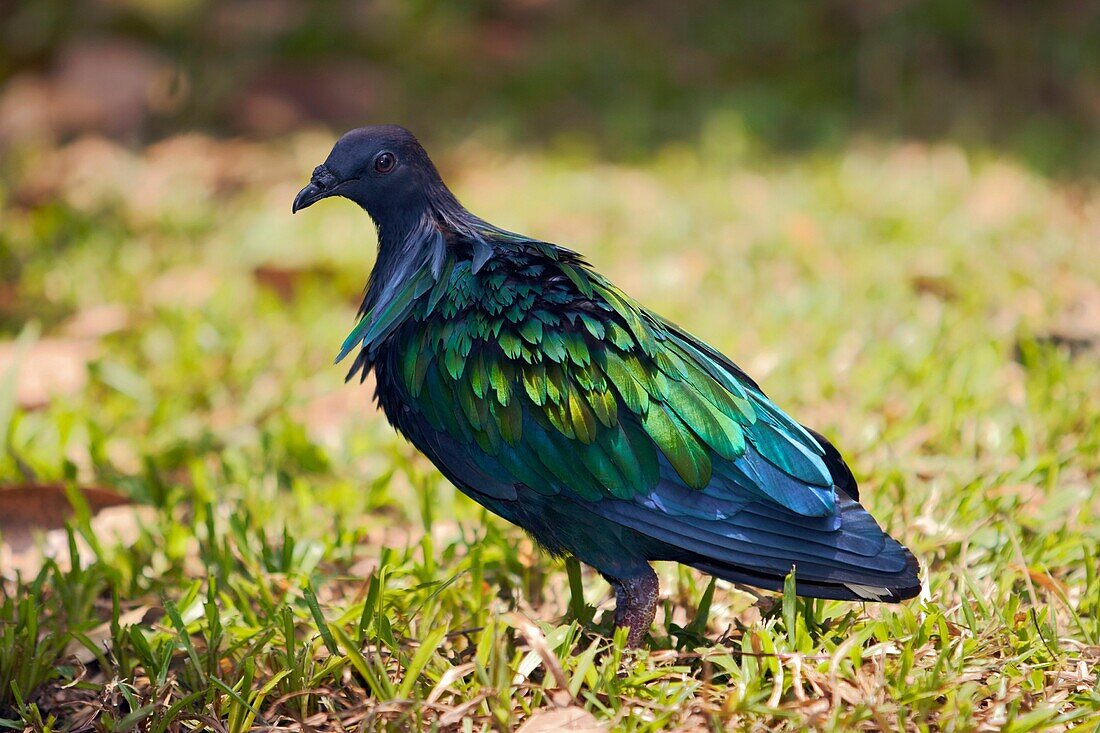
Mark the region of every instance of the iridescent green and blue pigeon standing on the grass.
POLYGON ((466 210, 411 132, 352 130, 294 199, 373 220, 377 255, 337 355, 461 492, 600 572, 642 644, 675 561, 738 584, 897 602, 913 554, 859 504, 838 450, 714 347, 580 254, 466 210))

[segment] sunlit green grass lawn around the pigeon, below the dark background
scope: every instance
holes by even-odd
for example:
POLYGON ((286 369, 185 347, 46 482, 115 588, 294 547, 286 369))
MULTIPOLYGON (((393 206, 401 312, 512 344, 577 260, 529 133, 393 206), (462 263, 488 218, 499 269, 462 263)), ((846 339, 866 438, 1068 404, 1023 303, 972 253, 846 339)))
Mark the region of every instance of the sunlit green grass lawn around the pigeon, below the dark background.
POLYGON ((342 384, 372 228, 346 203, 289 215, 330 142, 4 163, 9 338, 72 341, 103 304, 127 325, 90 337, 77 391, 0 390, 0 478, 147 508, 125 545, 77 512, 75 564, 4 570, 0 727, 510 730, 571 700, 624 731, 1100 720, 1094 188, 954 147, 738 157, 721 131, 638 167, 442 155, 471 208, 582 251, 832 436, 926 570, 920 599, 865 606, 661 566, 625 652, 598 577, 342 384), (1074 319, 1091 348, 1050 338, 1074 319))

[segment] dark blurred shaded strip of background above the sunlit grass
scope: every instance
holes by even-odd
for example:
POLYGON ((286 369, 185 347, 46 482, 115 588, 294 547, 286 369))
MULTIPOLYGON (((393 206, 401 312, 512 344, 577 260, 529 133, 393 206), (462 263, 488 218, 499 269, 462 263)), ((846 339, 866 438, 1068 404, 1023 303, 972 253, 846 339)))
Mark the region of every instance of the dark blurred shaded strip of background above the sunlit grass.
POLYGON ((9 142, 400 121, 644 158, 719 124, 774 151, 947 138, 1100 166, 1091 0, 35 0, 0 28, 9 142))

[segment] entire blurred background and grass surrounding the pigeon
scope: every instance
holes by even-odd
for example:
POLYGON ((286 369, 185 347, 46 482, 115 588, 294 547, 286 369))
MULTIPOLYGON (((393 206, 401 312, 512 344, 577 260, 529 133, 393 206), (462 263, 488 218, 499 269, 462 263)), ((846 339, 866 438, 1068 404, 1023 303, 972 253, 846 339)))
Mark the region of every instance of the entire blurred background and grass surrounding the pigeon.
POLYGON ((0 3, 0 727, 509 731, 539 634, 614 730, 1100 719, 1098 133, 1094 0, 0 3), (623 657, 332 365, 373 227, 290 201, 380 122, 829 436, 921 598, 658 564, 623 657))

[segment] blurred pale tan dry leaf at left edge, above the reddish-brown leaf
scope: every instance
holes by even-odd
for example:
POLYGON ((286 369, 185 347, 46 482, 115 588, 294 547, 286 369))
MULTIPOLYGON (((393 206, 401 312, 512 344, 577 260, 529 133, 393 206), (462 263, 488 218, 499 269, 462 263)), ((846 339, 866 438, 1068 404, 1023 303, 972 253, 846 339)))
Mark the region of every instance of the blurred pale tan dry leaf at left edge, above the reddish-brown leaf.
POLYGON ((24 409, 36 409, 84 389, 96 349, 90 339, 42 339, 20 354, 19 346, 8 341, 0 343, 0 374, 18 369, 15 401, 24 409))

